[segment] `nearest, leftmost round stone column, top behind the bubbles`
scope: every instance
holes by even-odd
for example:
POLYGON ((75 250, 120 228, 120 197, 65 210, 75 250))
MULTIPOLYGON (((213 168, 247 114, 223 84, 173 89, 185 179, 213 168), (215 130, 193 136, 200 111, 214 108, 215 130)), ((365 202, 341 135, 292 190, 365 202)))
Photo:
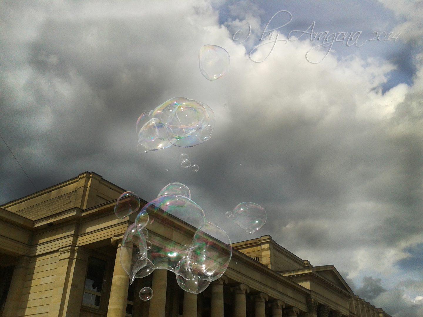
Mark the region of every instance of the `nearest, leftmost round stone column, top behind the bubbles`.
MULTIPOLYGON (((128 301, 129 276, 121 265, 121 237, 113 237, 112 244, 117 247, 115 268, 113 269, 112 287, 110 288, 109 308, 107 317, 125 317, 126 302, 128 301)), ((132 252, 130 252, 132 253, 132 252)), ((132 254, 126 252, 126 257, 131 258, 132 254)))

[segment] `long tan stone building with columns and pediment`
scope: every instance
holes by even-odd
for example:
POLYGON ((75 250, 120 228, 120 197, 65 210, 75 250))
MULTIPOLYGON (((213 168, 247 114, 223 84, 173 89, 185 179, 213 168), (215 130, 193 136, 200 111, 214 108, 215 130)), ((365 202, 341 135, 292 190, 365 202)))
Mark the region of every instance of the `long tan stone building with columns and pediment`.
MULTIPOLYGON (((136 215, 113 212, 124 191, 85 172, 0 206, 0 317, 389 317, 333 265, 313 266, 269 235, 233 243, 225 274, 198 295, 163 269, 129 287, 120 243, 136 215), (137 295, 145 286, 150 301, 137 295)), ((178 219, 149 226, 176 242, 195 231, 178 219)))

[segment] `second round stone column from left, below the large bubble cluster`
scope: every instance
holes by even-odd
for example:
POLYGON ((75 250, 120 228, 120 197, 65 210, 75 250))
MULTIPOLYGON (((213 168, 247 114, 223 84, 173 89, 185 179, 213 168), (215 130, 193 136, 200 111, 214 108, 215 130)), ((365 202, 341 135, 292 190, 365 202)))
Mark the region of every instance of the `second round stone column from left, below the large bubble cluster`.
POLYGON ((151 284, 153 297, 150 299, 150 310, 148 312, 148 317, 165 317, 167 284, 168 270, 154 270, 153 282, 151 284))

